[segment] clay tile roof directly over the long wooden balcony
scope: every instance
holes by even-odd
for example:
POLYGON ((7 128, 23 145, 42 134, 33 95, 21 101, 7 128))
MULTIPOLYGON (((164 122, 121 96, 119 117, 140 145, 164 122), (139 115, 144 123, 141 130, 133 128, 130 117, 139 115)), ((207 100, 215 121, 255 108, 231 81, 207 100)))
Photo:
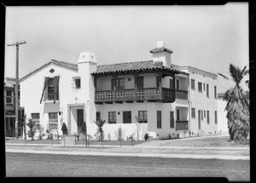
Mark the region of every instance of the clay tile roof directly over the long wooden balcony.
POLYGON ((112 75, 112 74, 131 74, 134 72, 158 72, 164 71, 166 75, 178 74, 173 68, 163 66, 161 61, 148 60, 148 61, 138 61, 138 62, 127 62, 112 65, 97 66, 97 71, 91 73, 93 76, 100 75, 112 75))

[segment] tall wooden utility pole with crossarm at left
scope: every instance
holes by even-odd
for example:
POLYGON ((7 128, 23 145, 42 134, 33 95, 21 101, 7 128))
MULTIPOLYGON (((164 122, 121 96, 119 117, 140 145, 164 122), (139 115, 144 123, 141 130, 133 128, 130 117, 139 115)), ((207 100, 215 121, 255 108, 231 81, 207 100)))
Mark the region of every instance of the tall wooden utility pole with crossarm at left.
POLYGON ((7 44, 7 46, 16 46, 16 83, 15 83, 15 139, 19 138, 19 45, 25 42, 7 44))

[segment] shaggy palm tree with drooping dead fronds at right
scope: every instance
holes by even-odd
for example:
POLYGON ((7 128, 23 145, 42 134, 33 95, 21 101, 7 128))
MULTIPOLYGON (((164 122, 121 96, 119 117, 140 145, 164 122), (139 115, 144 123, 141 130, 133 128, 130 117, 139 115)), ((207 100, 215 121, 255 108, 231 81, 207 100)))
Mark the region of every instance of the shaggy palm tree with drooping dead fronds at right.
MULTIPOLYGON (((227 102, 225 111, 227 111, 230 140, 235 141, 246 140, 250 130, 249 91, 241 84, 242 79, 248 73, 246 68, 245 66, 241 70, 239 67, 230 64, 230 76, 231 80, 235 82, 235 86, 228 89, 224 94, 224 100, 227 102)), ((229 79, 223 74, 218 74, 225 79, 229 79)))

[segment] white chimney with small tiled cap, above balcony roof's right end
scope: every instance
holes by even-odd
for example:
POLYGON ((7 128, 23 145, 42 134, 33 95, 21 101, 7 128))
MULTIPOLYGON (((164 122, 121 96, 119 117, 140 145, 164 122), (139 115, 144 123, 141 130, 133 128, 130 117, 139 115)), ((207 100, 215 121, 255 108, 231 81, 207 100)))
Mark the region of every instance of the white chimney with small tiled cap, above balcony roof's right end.
POLYGON ((156 44, 156 49, 150 51, 153 61, 163 62, 163 66, 171 67, 172 50, 166 48, 166 43, 159 41, 156 44))

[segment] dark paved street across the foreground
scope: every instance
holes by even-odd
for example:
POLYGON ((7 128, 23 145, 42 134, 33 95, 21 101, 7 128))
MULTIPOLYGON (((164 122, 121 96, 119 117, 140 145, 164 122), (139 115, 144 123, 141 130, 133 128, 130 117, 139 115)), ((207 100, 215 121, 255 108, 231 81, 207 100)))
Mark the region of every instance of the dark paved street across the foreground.
POLYGON ((248 160, 6 153, 8 177, 226 177, 248 181, 249 166, 248 160))

